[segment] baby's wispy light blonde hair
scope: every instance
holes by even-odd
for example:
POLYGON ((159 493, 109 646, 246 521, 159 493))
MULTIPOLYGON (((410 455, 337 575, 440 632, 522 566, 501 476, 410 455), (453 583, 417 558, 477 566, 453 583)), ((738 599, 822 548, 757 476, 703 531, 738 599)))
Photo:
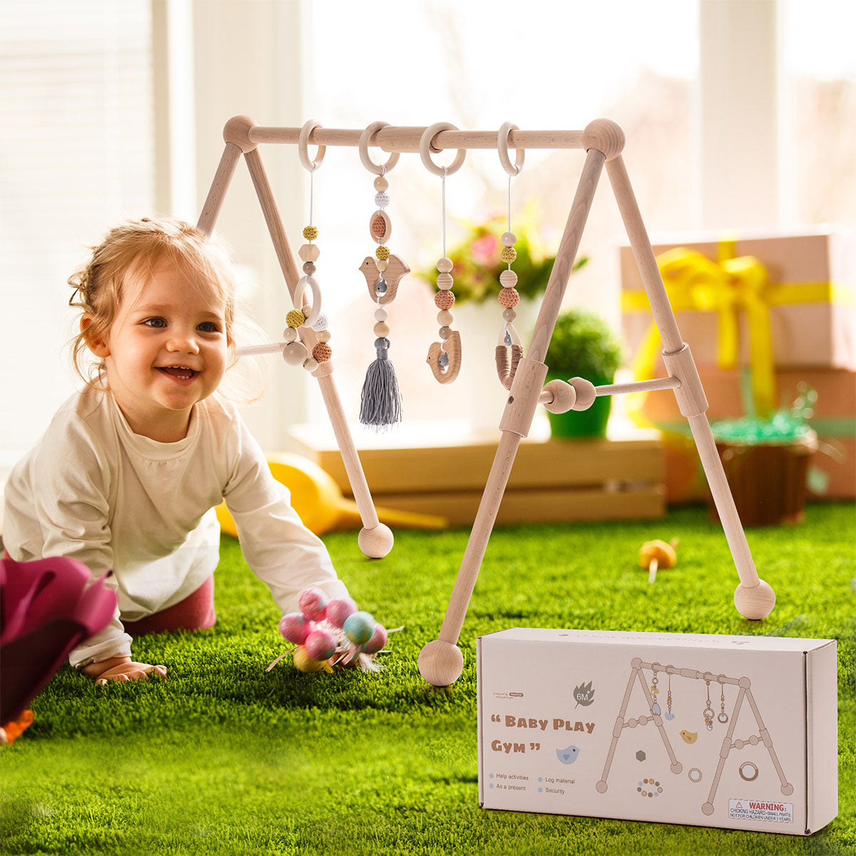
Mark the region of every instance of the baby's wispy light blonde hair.
MULTIPOLYGON (((192 275, 187 277, 188 281, 208 282, 223 300, 225 332, 229 342, 233 342, 235 276, 223 249, 199 229, 169 217, 143 217, 110 229, 104 241, 90 249, 92 256, 86 266, 68 277, 68 285, 74 288, 68 305, 92 316, 86 330, 80 330, 71 341, 74 370, 87 386, 106 389, 104 360, 90 363, 88 372, 84 372, 83 357, 87 342, 106 341, 122 304, 125 278, 130 272, 147 278, 158 264, 165 262, 192 275)), ((230 363, 234 362, 232 348, 230 363)))

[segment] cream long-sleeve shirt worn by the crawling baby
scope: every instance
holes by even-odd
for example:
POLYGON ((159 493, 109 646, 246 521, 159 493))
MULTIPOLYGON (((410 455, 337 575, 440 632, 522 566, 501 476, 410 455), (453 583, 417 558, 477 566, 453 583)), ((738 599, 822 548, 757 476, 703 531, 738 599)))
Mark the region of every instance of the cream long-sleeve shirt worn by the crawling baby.
POLYGON ((5 489, 3 546, 15 561, 72 556, 112 570, 116 615, 69 656, 75 667, 130 656, 122 619, 179 603, 219 559, 214 508, 225 499, 247 564, 282 613, 306 586, 347 594, 324 544, 291 508, 288 490, 235 407, 214 394, 193 407, 187 437, 158 443, 131 431, 109 393, 73 395, 5 489))

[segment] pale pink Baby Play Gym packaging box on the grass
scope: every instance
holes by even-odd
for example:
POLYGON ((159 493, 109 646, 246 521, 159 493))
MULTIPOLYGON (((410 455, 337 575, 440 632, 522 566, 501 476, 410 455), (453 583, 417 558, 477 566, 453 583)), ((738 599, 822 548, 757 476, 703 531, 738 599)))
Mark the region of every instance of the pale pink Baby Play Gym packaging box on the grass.
POLYGON ((829 639, 478 640, 479 804, 811 835, 838 811, 829 639))

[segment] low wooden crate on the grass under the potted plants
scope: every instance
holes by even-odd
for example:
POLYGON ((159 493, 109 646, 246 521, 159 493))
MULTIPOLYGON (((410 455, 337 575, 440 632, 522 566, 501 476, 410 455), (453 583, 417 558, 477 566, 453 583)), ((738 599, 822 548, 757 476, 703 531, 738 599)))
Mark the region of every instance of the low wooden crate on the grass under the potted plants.
MULTIPOLYGON (((331 435, 295 425, 294 451, 326 470, 345 496, 353 496, 342 456, 331 435)), ((437 437, 443 437, 438 431, 437 437)), ((442 514, 450 523, 475 520, 500 433, 466 442, 408 442, 403 437, 360 437, 372 499, 385 508, 442 514)), ((658 439, 524 439, 514 459, 498 523, 629 520, 665 512, 663 445, 658 439)))

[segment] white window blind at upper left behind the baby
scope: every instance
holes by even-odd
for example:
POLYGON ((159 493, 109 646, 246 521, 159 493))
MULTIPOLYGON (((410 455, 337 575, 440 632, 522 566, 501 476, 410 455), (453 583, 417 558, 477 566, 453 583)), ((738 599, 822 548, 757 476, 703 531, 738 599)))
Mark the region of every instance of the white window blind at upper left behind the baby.
POLYGON ((0 0, 0 469, 76 385, 68 276, 152 213, 152 101, 148 0, 0 0))

